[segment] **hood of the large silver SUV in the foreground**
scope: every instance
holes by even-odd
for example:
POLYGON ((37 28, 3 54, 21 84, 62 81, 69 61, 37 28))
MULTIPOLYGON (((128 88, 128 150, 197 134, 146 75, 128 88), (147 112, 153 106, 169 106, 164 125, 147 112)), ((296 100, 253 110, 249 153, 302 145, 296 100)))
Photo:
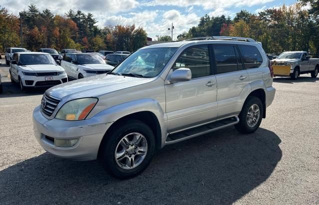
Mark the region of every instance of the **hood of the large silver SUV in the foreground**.
POLYGON ((59 99, 66 96, 72 99, 94 97, 100 94, 141 85, 152 80, 152 78, 102 74, 54 86, 48 89, 46 93, 59 99))

